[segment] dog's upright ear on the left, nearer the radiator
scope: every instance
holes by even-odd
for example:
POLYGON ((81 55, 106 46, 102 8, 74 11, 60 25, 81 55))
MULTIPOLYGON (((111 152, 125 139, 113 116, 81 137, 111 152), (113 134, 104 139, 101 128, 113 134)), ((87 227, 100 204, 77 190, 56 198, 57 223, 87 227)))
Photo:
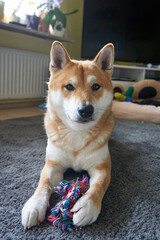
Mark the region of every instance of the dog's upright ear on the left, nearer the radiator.
POLYGON ((50 52, 50 61, 51 67, 57 70, 62 69, 65 66, 65 64, 71 61, 66 49, 58 41, 55 41, 52 44, 50 52))

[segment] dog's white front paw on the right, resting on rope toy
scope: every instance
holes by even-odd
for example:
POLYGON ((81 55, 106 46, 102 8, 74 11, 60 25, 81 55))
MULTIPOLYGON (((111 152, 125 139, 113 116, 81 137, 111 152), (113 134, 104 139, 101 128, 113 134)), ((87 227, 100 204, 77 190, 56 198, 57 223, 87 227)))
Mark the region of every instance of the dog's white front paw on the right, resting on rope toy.
POLYGON ((89 194, 82 196, 72 208, 73 224, 76 226, 89 225, 96 221, 100 208, 97 208, 89 194))

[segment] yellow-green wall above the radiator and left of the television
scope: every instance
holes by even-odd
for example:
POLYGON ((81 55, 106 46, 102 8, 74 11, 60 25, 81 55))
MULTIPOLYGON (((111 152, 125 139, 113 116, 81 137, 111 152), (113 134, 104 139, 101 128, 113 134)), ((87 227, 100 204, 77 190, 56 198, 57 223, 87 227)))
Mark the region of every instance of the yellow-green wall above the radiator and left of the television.
MULTIPOLYGON (((67 30, 69 38, 74 40, 75 43, 64 43, 64 45, 72 58, 80 59, 83 0, 64 0, 62 5, 63 11, 69 12, 74 9, 78 9, 79 11, 76 14, 67 16, 67 30)), ((49 54, 51 44, 52 40, 46 40, 0 29, 0 46, 2 47, 49 54)))

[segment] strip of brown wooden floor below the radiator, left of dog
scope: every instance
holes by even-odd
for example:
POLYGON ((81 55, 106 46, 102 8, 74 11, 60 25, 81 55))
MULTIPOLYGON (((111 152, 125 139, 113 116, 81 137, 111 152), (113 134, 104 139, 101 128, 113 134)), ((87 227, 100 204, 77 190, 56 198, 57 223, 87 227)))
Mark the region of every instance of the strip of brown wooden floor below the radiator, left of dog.
POLYGON ((0 120, 39 116, 44 115, 44 112, 45 111, 43 109, 38 107, 0 109, 0 120))

